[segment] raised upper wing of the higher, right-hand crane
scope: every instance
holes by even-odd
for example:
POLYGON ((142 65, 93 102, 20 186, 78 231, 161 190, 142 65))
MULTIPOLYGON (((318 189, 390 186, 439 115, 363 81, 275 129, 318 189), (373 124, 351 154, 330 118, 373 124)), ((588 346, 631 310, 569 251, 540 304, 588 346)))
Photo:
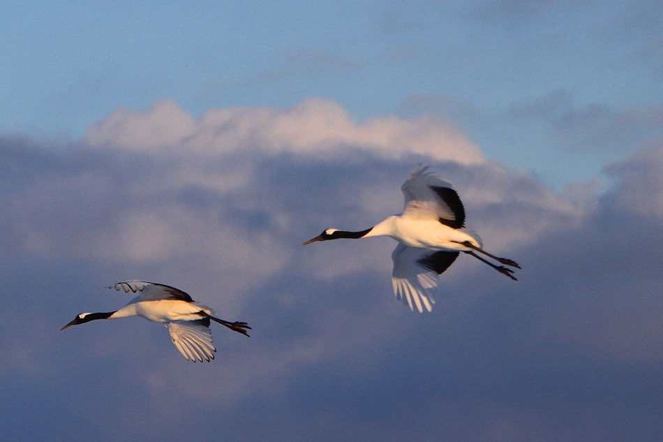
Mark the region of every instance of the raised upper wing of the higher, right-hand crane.
POLYGON ((408 179, 405 179, 401 191, 405 196, 403 216, 412 218, 433 218, 451 228, 465 225, 465 209, 458 193, 452 185, 427 172, 428 166, 418 164, 408 179))

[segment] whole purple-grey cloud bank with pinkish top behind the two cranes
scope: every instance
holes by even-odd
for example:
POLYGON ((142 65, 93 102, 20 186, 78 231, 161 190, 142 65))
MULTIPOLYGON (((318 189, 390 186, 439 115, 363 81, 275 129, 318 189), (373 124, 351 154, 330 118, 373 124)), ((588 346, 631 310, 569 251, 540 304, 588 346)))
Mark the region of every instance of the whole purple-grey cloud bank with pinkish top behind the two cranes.
POLYGON ((454 131, 329 101, 200 118, 165 101, 73 146, 0 138, 6 437, 70 440, 86 422, 100 441, 174 441, 214 422, 255 441, 660 439, 663 146, 606 166, 602 193, 560 195, 454 131), (414 314, 392 295, 389 238, 301 246, 400 212, 419 161, 519 282, 461 256, 414 314), (57 332, 121 307, 103 286, 131 278, 252 337, 216 327, 217 359, 191 364, 147 321, 57 332))

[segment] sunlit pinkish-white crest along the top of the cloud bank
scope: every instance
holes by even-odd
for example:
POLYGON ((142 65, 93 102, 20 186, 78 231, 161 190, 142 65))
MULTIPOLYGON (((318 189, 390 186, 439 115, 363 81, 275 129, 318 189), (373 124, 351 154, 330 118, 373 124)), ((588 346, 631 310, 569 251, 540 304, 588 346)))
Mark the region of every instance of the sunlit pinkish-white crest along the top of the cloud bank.
POLYGON ((244 149, 306 153, 327 157, 362 149, 386 159, 419 154, 436 161, 482 163, 481 149, 451 122, 424 115, 357 121, 343 106, 320 98, 291 108, 232 107, 209 110, 200 118, 170 100, 147 112, 126 108, 92 126, 85 142, 132 151, 185 150, 207 154, 244 149))

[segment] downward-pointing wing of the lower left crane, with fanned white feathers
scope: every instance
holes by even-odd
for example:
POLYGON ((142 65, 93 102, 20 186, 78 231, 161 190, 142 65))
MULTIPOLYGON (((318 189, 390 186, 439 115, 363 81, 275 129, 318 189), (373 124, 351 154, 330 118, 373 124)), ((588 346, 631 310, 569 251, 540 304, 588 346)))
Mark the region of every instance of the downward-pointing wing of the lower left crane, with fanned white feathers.
POLYGON ((172 343, 186 360, 202 362, 204 359, 209 362, 214 359, 216 348, 211 340, 209 318, 196 321, 173 321, 164 325, 170 332, 172 343))

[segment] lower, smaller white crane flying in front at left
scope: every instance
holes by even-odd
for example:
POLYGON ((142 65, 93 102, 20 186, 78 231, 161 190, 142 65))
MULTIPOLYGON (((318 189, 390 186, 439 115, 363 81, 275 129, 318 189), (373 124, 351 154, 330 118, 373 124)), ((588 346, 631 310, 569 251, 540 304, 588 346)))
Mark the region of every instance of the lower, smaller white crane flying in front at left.
POLYGON ((214 359, 214 344, 209 331, 209 320, 230 328, 235 332, 248 336, 246 323, 223 321, 212 316, 214 311, 198 302, 194 302, 187 293, 164 284, 146 281, 125 281, 107 287, 115 290, 131 290, 138 295, 125 307, 107 313, 82 313, 73 321, 62 327, 64 330, 72 325, 95 321, 96 319, 126 318, 140 316, 148 321, 163 323, 170 332, 170 339, 184 358, 195 362, 214 359))

